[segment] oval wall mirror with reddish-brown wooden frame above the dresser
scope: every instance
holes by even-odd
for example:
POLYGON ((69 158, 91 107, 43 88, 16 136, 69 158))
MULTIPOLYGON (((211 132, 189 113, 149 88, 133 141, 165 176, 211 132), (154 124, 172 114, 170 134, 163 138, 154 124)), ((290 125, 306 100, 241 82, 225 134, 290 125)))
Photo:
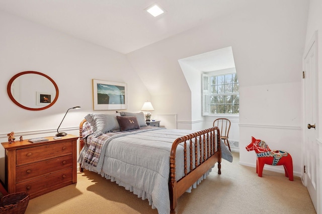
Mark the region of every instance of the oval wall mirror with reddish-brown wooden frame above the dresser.
POLYGON ((55 81, 37 71, 24 71, 13 76, 7 92, 16 105, 32 111, 49 108, 55 104, 59 94, 55 81))

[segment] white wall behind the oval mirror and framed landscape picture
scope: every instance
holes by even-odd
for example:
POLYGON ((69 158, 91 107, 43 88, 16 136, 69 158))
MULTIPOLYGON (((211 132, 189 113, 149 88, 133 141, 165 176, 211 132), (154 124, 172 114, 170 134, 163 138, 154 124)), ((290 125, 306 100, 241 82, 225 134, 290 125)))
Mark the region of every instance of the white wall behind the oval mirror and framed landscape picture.
MULTIPOLYGON (((79 122, 93 112, 92 79, 127 83, 128 111, 139 111, 150 94, 129 65, 125 55, 53 31, 49 28, 0 12, 0 140, 7 133, 17 139, 52 136, 66 110, 73 106, 61 125, 78 135, 79 122), (58 85, 59 97, 49 109, 28 111, 16 106, 7 94, 11 77, 22 71, 38 71, 58 85), (71 130, 70 130, 71 129, 71 130)), ((107 111, 95 111, 107 112, 107 111)), ((114 112, 114 111, 111 111, 114 112)), ((0 146, 0 178, 4 181, 5 151, 0 146)))

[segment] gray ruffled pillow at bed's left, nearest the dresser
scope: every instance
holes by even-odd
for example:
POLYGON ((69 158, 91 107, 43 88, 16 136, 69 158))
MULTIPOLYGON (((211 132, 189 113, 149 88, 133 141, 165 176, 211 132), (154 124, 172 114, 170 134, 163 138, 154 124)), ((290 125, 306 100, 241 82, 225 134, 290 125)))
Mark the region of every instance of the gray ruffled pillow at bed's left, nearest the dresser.
POLYGON ((120 129, 116 116, 120 114, 88 114, 85 119, 92 125, 93 135, 98 137, 103 133, 120 129))

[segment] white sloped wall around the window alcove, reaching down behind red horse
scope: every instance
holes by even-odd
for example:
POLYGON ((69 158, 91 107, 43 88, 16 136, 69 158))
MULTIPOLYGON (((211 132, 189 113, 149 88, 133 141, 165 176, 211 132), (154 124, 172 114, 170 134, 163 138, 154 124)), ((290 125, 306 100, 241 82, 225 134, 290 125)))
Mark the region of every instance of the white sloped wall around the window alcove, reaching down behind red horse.
MULTIPOLYGON (((301 143, 300 83, 309 2, 249 1, 252 7, 246 10, 219 17, 127 57, 152 101, 159 102, 157 111, 178 113, 178 128, 186 128, 194 124, 196 113, 191 106, 198 101, 190 103, 191 93, 186 93, 189 87, 178 60, 231 46, 240 86, 239 122, 245 124, 239 130, 240 150, 253 135, 266 140, 271 148, 285 148, 294 159, 300 159, 301 151, 293 148, 301 143), (157 83, 148 82, 147 77, 157 83), (266 127, 272 126, 278 128, 268 131, 266 127)), ((241 152, 240 161, 255 166, 255 152, 241 152)), ((295 162, 294 173, 300 175, 301 171, 295 162)))

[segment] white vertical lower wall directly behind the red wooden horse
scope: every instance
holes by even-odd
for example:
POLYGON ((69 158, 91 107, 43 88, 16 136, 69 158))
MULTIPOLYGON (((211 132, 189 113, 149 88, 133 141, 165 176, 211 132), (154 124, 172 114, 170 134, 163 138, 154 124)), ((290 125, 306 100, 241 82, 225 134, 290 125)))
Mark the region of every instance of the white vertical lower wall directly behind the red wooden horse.
MULTIPOLYGON (((256 165, 255 152, 245 149, 254 136, 272 150, 288 151, 293 157, 294 175, 301 176, 301 83, 243 87, 239 93, 240 100, 252 99, 248 105, 240 105, 240 163, 256 165), (247 116, 244 112, 248 112, 247 116)), ((264 168, 284 172, 283 166, 264 168)))

